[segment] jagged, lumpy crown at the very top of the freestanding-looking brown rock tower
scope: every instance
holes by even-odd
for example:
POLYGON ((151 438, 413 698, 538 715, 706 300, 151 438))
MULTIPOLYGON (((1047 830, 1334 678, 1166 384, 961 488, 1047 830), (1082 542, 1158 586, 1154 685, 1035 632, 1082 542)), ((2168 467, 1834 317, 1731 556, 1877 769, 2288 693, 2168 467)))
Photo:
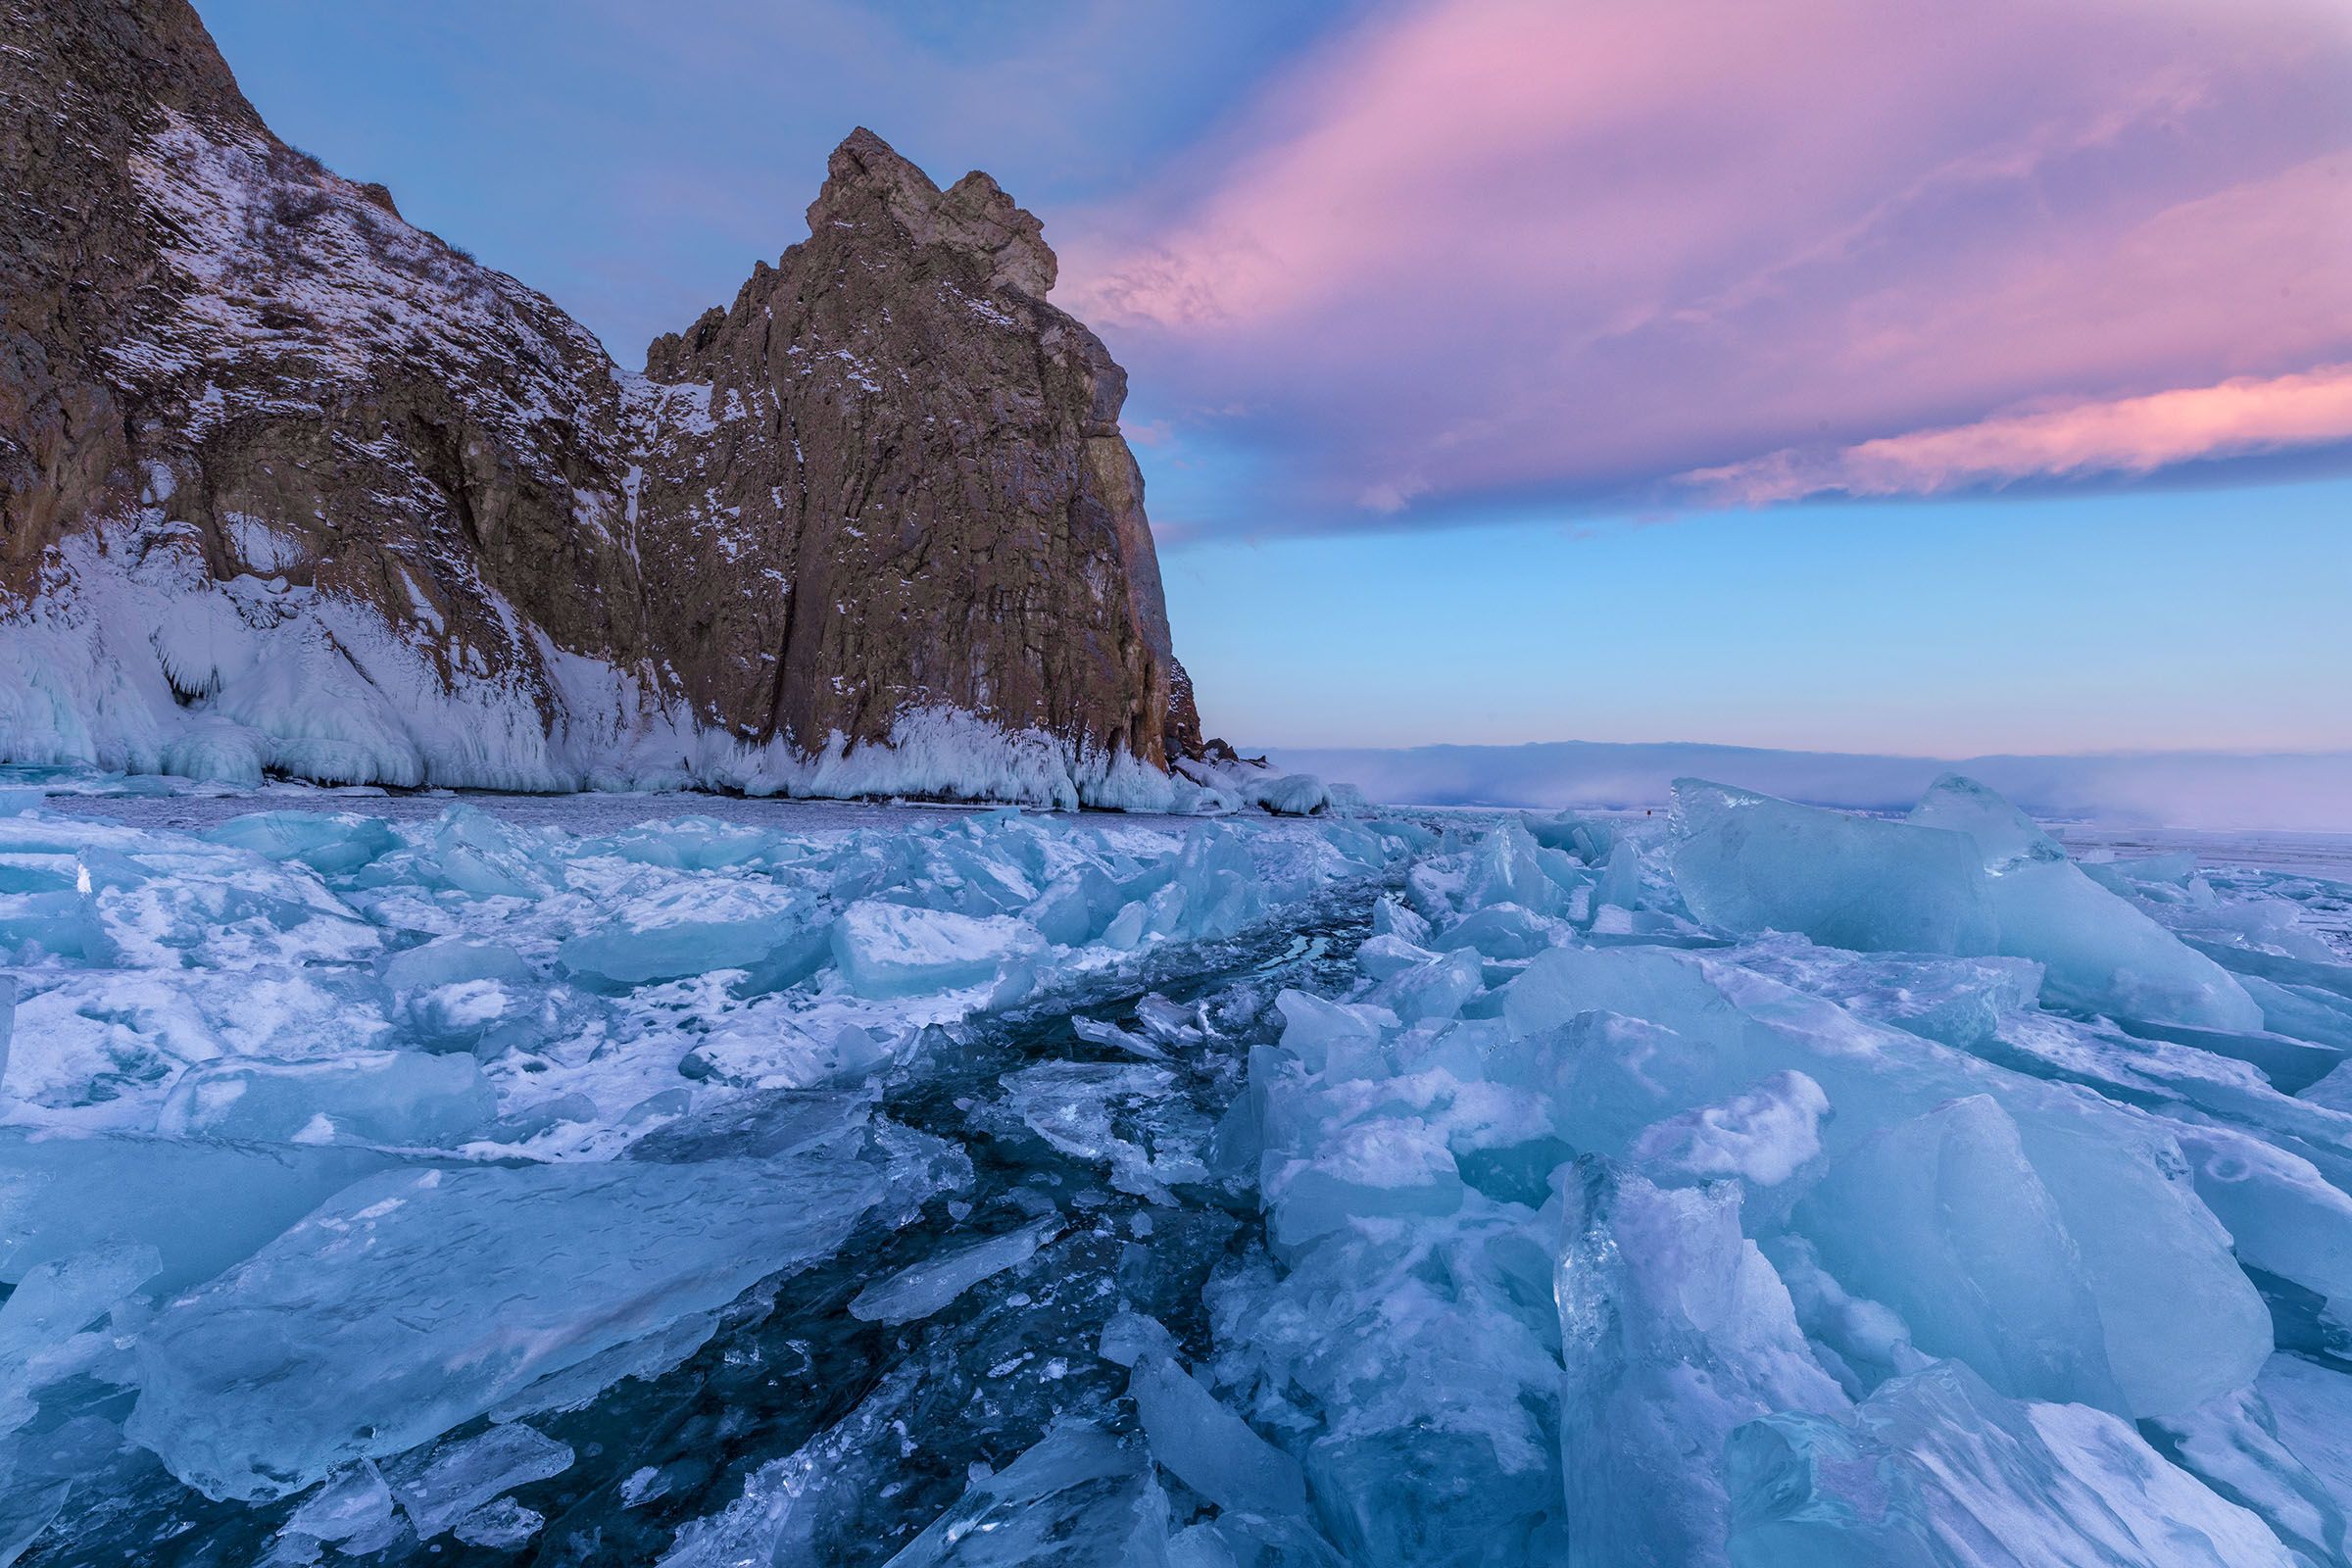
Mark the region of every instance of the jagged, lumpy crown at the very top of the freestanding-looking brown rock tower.
POLYGON ((990 289, 1021 289, 1044 299, 1054 287, 1058 263, 1037 214, 978 169, 941 190, 929 174, 861 125, 826 160, 826 186, 809 202, 809 233, 868 223, 877 209, 915 244, 985 259, 990 289))

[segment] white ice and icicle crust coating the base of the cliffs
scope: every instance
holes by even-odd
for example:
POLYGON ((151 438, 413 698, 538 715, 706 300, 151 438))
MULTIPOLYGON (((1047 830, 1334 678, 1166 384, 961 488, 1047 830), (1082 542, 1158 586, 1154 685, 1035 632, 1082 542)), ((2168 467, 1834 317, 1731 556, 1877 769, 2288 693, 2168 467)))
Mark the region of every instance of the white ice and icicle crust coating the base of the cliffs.
POLYGON ((92 529, 56 545, 40 599, 0 607, 0 762, 230 785, 703 788, 1063 811, 1310 813, 1334 802, 1301 773, 1207 759, 1162 771, 953 708, 906 710, 880 743, 750 745, 659 698, 659 682, 532 630, 557 689, 543 715, 513 682, 470 668, 463 646, 445 663, 419 628, 372 604, 285 578, 214 581, 198 543, 191 529, 92 529))

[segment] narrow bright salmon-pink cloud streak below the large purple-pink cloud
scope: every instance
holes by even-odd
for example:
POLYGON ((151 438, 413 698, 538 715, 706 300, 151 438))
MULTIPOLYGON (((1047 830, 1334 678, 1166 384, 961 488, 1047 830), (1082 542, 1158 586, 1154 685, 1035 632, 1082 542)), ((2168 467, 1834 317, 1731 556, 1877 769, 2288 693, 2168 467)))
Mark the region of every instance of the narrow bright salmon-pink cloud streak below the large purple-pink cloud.
POLYGON ((1745 463, 1700 468, 1682 480, 1708 496, 1745 505, 1828 491, 1933 496, 1971 484, 2154 473, 2197 458, 2333 442, 2352 442, 2352 364, 2002 414, 1828 454, 1773 451, 1745 463))

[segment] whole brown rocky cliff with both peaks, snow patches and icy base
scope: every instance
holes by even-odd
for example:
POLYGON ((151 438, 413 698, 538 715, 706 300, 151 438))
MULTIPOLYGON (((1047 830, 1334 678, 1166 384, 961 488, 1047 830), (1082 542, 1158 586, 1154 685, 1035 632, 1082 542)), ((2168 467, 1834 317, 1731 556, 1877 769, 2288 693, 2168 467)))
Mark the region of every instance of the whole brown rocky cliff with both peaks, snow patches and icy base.
POLYGON ((1124 374, 985 174, 851 134, 628 374, 181 0, 0 0, 0 757, 1200 797, 1124 374))

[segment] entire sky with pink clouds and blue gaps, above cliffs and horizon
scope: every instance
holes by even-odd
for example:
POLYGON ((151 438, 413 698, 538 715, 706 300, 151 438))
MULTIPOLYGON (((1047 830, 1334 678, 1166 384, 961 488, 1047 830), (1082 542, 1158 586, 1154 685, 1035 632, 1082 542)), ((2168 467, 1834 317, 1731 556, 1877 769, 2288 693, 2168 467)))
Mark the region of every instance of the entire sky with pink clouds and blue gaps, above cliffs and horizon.
POLYGON ((2340 9, 198 9, 630 367, 851 125, 997 174, 1235 741, 2352 748, 2340 9))

